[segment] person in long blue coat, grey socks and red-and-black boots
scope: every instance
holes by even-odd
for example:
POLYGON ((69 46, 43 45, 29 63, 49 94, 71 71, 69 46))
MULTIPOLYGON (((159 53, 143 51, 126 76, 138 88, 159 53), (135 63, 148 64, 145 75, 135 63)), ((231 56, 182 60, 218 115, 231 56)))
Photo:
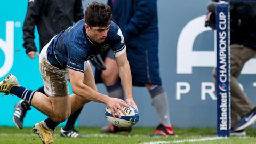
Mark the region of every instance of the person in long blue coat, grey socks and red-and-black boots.
MULTIPOLYGON (((114 21, 123 32, 127 46, 133 86, 146 87, 160 120, 153 135, 174 135, 169 117, 169 102, 159 76, 158 63, 158 19, 156 0, 109 0, 114 21)), ((108 94, 124 99, 123 86, 119 81, 117 64, 113 52, 102 54, 106 70, 96 69, 96 82, 103 82, 108 94)), ((130 132, 114 125, 101 128, 103 133, 130 132)))

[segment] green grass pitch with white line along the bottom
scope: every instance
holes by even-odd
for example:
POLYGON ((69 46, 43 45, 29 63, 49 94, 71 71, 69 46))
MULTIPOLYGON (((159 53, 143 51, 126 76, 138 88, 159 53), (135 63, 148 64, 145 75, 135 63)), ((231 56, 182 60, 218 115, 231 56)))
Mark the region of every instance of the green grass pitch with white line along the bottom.
MULTIPOLYGON (((77 130, 87 138, 62 138, 60 129, 56 131, 54 144, 76 144, 76 143, 143 143, 143 144, 165 144, 165 143, 256 143, 256 130, 246 130, 246 137, 218 138, 214 134, 215 129, 178 129, 175 128, 174 137, 149 137, 154 128, 134 127, 131 133, 121 132, 118 134, 101 134, 99 127, 78 127, 77 130)), ((0 143, 28 144, 42 143, 37 135, 30 129, 18 130, 15 127, 0 127, 0 143)))

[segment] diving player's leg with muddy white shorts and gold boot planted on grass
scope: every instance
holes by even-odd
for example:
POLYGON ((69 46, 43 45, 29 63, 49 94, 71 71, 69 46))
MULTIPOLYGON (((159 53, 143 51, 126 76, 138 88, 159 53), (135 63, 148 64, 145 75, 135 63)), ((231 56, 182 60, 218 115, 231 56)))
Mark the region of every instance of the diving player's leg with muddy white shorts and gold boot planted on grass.
MULTIPOLYGON (((65 75, 68 69, 57 69, 51 66, 47 59, 41 61, 39 67, 44 81, 44 91, 49 96, 50 103, 45 102, 40 97, 35 97, 32 100, 32 105, 37 109, 43 109, 45 106, 42 106, 41 103, 47 103, 52 107, 52 111, 49 112, 53 115, 48 115, 49 117, 44 121, 36 123, 33 131, 44 143, 53 143, 55 127, 70 116, 70 97, 65 75)), ((41 97, 43 96, 41 95, 41 97)))

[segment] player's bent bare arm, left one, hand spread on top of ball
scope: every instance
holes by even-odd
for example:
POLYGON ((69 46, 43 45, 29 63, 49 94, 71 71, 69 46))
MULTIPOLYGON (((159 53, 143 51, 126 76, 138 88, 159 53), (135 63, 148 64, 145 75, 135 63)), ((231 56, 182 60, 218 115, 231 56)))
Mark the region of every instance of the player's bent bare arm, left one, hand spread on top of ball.
MULTIPOLYGON (((125 111, 121 108, 121 106, 128 108, 129 106, 125 104, 124 100, 110 98, 108 97, 108 95, 99 93, 93 90, 90 86, 85 85, 83 83, 84 73, 81 73, 80 71, 69 69, 69 76, 72 90, 76 95, 79 95, 80 97, 87 100, 105 103, 111 109, 113 116, 115 116, 114 113, 117 112, 118 117, 121 117, 121 115, 118 113, 118 109, 121 110, 124 115, 126 115, 125 111)), ((88 81, 92 80, 88 79, 88 81)))

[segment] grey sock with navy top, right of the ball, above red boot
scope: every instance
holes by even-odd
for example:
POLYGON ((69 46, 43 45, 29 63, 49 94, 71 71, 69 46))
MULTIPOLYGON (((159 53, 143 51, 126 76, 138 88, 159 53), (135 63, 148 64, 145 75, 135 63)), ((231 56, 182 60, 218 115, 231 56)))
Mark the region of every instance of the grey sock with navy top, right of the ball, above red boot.
POLYGON ((149 92, 152 98, 152 104, 155 106, 157 114, 160 118, 160 122, 164 126, 171 126, 167 93, 164 91, 161 85, 154 86, 151 90, 149 90, 149 92))

